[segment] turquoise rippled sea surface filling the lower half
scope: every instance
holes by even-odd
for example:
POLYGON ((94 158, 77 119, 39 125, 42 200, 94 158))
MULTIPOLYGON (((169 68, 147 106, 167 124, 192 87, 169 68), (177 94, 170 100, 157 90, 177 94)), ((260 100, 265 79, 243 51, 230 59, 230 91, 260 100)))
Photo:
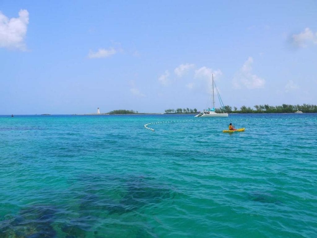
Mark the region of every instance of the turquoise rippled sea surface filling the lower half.
POLYGON ((317 114, 193 116, 0 116, 0 237, 317 237, 317 114))

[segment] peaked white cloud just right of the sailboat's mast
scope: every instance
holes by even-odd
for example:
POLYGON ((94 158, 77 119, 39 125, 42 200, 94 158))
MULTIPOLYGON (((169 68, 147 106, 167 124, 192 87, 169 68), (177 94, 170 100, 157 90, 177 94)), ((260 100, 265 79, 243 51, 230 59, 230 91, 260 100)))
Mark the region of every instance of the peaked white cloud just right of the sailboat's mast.
POLYGON ((249 57, 248 60, 244 62, 239 72, 236 73, 236 76, 233 79, 233 86, 236 89, 240 89, 241 84, 247 87, 248 89, 264 87, 265 80, 258 77, 255 74, 252 74, 252 63, 253 58, 249 57))

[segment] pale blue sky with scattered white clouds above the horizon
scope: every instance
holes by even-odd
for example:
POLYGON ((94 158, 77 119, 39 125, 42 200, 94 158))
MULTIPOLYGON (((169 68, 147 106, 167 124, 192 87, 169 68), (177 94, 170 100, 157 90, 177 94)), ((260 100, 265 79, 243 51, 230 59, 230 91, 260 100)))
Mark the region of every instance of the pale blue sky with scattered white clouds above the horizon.
POLYGON ((317 104, 317 2, 0 2, 0 114, 317 104), (216 101, 216 107, 219 107, 216 101))

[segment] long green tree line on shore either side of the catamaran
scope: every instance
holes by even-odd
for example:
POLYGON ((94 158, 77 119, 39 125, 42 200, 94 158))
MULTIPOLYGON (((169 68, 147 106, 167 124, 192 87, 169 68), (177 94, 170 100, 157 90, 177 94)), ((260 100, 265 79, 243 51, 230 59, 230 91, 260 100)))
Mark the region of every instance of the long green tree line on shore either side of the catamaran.
MULTIPOLYGON (((303 105, 290 105, 282 104, 280 106, 269 106, 268 104, 264 105, 255 105, 255 109, 251 107, 242 106, 240 110, 237 107, 231 107, 229 105, 224 106, 223 108, 216 108, 215 112, 227 112, 227 113, 294 113, 296 111, 302 111, 304 113, 317 112, 317 105, 313 104, 303 104, 303 105)), ((197 109, 166 109, 165 113, 197 113, 197 109)))

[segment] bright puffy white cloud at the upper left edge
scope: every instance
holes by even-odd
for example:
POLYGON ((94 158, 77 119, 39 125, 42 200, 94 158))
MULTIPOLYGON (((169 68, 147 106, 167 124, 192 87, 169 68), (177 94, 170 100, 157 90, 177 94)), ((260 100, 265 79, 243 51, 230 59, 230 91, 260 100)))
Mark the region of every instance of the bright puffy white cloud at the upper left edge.
POLYGON ((18 18, 9 19, 0 11, 0 47, 26 50, 24 38, 29 24, 29 12, 20 10, 18 18))

